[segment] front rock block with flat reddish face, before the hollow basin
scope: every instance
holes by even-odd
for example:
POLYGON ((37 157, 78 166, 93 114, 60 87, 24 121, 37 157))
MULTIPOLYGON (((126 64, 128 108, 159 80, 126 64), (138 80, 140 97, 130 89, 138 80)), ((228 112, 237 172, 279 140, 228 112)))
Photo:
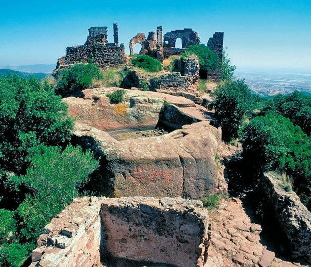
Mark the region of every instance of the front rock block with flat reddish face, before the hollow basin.
POLYGON ((105 159, 92 182, 94 190, 105 195, 200 198, 227 192, 215 160, 221 132, 208 121, 134 142, 118 142, 107 132, 81 124, 76 124, 74 135, 105 159))

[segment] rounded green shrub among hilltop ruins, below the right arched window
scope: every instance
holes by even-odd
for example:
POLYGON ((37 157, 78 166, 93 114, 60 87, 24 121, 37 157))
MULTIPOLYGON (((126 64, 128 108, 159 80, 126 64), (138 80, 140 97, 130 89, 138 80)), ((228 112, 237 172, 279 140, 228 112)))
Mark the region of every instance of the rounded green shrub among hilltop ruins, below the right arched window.
POLYGON ((198 57, 200 69, 202 70, 214 71, 219 67, 218 55, 204 44, 188 46, 182 54, 182 58, 189 57, 192 54, 198 57))

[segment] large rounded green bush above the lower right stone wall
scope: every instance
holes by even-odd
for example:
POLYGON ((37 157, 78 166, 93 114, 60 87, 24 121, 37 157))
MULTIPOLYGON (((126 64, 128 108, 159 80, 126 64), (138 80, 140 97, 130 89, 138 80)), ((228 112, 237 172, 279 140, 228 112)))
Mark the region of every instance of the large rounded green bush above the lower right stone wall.
POLYGON ((242 156, 255 176, 279 170, 294 179, 296 193, 311 208, 311 141, 299 126, 268 113, 242 128, 242 156))

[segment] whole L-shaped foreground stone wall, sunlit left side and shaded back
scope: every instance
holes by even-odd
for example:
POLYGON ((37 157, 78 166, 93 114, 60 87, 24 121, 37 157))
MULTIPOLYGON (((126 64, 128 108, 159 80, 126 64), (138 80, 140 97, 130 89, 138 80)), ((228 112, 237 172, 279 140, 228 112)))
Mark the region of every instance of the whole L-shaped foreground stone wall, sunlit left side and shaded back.
POLYGON ((208 228, 201 201, 77 198, 45 227, 30 266, 202 267, 208 228))

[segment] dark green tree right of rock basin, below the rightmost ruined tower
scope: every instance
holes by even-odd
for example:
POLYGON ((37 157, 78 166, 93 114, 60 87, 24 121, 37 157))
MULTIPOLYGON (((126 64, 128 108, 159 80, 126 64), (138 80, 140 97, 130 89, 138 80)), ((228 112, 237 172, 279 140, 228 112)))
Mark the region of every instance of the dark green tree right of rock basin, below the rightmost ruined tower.
POLYGON ((214 94, 215 115, 222 127, 223 140, 228 142, 238 137, 238 129, 251 116, 257 98, 244 80, 220 83, 214 94))

